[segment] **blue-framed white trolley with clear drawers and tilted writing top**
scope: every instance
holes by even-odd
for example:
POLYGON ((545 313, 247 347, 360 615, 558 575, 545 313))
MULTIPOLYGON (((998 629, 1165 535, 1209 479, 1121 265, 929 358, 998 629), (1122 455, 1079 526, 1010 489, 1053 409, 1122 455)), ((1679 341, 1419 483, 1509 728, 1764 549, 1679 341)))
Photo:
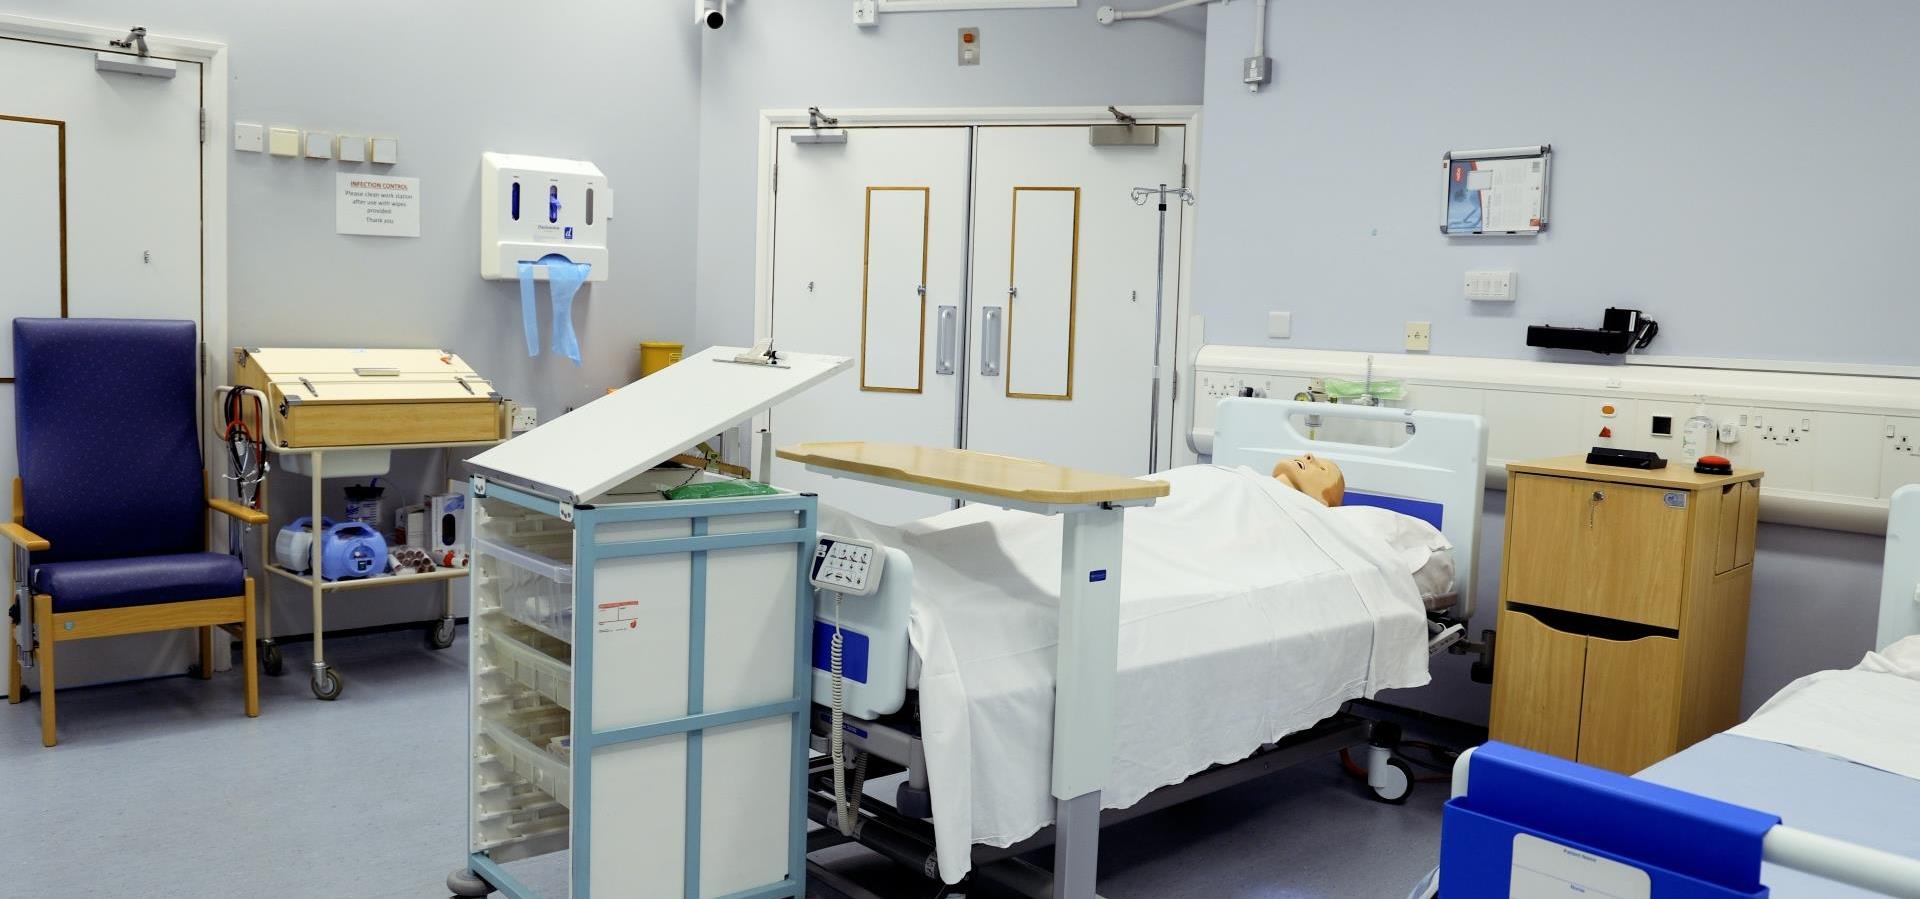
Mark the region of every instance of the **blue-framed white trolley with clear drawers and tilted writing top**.
POLYGON ((684 359, 476 455, 461 895, 804 895, 812 496, 660 463, 849 361, 684 359))

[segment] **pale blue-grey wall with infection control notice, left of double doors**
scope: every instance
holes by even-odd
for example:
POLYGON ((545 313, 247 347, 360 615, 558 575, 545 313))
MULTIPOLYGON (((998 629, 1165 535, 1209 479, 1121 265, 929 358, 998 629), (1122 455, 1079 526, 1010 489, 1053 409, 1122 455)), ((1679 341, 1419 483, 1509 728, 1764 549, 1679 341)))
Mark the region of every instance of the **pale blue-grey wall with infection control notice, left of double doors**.
MULTIPOLYGON (((684 2, 576 0, 549 13, 499 0, 0 0, 0 12, 219 40, 234 121, 399 138, 390 169, 209 142, 228 163, 236 346, 453 348, 545 421, 632 380, 637 340, 691 332, 701 44, 684 2), (614 186, 614 275, 574 304, 584 367, 528 359, 516 284, 480 279, 484 150, 593 159, 614 186), (340 171, 419 177, 420 236, 334 234, 340 171)), ((397 467, 390 505, 436 488, 426 453, 397 467)), ((340 484, 326 484, 330 503, 340 484)), ((273 490, 276 522, 305 505, 305 478, 275 476, 273 490)), ((275 595, 276 630, 309 630, 305 592, 278 582, 275 595)), ((348 628, 436 615, 436 597, 344 594, 328 609, 328 626, 348 628)))

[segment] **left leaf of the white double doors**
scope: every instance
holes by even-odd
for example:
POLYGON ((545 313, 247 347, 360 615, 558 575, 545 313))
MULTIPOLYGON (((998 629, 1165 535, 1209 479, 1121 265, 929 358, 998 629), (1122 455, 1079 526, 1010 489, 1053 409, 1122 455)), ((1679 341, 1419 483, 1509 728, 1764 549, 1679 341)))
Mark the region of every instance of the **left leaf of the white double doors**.
MULTIPOLYGON (((972 129, 851 129, 845 144, 789 134, 778 134, 774 346, 849 355, 854 369, 774 409, 774 444, 954 446, 972 129)), ((887 522, 950 507, 787 461, 772 480, 887 522)))

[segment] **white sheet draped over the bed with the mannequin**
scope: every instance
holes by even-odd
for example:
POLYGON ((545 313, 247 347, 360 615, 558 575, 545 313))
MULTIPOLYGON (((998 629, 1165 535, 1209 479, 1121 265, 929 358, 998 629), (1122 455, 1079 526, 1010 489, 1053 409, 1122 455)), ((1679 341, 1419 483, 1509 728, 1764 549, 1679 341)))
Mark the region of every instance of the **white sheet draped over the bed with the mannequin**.
MULTIPOLYGON (((1146 793, 1304 730, 1354 697, 1427 684, 1427 619, 1407 565, 1361 519, 1250 469, 1160 474, 1121 557, 1114 772, 1102 803, 1146 793)), ((1060 519, 970 505, 883 528, 822 515, 914 559, 910 640, 941 876, 972 845, 1052 822, 1060 519)))

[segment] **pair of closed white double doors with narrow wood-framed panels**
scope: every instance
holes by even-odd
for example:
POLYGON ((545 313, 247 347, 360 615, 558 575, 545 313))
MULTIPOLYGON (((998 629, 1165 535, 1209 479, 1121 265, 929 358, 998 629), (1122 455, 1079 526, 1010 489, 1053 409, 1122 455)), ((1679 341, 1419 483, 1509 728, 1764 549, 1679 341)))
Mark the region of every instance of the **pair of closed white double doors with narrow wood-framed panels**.
MULTIPOLYGON (((780 134, 770 336, 858 365, 783 403, 774 440, 956 446, 1114 474, 1164 465, 1185 206, 1162 229, 1133 190, 1183 173, 1179 127, 1152 146, 1094 146, 1066 125, 780 134)), ((876 521, 947 509, 785 461, 772 476, 876 521)))

